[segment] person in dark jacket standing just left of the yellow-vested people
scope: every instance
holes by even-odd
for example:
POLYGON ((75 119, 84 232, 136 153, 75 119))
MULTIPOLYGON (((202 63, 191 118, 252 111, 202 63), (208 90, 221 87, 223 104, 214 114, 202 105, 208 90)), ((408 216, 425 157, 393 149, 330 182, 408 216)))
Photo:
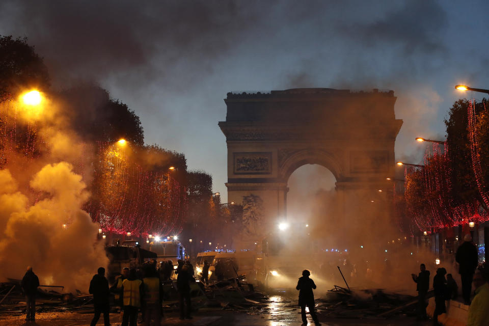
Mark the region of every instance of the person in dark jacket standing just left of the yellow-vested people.
POLYGON ((104 326, 111 326, 108 319, 108 314, 110 312, 108 299, 111 295, 111 290, 108 288, 108 281, 105 278, 105 268, 98 268, 97 274, 95 274, 92 281, 90 281, 90 289, 88 292, 93 294, 93 308, 95 310, 90 326, 95 326, 97 324, 101 313, 103 313, 104 326))

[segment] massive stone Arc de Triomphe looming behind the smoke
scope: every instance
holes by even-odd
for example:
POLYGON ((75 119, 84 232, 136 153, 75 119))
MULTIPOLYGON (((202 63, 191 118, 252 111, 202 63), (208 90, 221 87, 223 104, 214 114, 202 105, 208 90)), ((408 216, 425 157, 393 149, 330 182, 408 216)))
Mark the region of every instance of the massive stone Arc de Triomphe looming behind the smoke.
POLYGON ((392 188, 386 177, 394 175, 402 125, 393 91, 290 89, 228 93, 224 101, 228 201, 260 196, 266 230, 286 218, 287 180, 305 164, 333 173, 345 216, 359 213, 365 191, 392 188))

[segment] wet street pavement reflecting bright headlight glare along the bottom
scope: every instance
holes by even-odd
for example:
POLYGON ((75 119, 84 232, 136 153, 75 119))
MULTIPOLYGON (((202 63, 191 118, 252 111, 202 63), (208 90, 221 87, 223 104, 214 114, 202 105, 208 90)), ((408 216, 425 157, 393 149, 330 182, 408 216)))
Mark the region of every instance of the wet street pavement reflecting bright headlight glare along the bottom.
MULTIPOLYGON (((261 309, 233 311, 221 308, 201 308, 195 312, 194 319, 180 320, 176 311, 166 314, 161 325, 196 325, 196 326, 288 326, 301 325, 300 308, 297 306, 296 296, 285 293, 276 293, 269 296, 266 306, 261 309)), ((430 321, 416 321, 414 317, 406 315, 384 318, 332 318, 331 312, 324 305, 318 305, 318 317, 322 325, 430 325, 430 321)), ((354 310, 352 310, 354 313, 354 310)), ((36 314, 36 321, 24 321, 25 315, 12 313, 12 315, 0 315, 0 326, 25 325, 25 326, 88 326, 92 320, 92 314, 77 312, 43 312, 36 314), (16 314, 16 315, 13 315, 16 314)), ((308 315, 310 325, 313 321, 308 315)), ((111 325, 120 325, 121 315, 111 314, 111 325)), ((140 324, 140 323, 138 323, 140 324)), ((100 318, 98 325, 103 325, 100 318)))

